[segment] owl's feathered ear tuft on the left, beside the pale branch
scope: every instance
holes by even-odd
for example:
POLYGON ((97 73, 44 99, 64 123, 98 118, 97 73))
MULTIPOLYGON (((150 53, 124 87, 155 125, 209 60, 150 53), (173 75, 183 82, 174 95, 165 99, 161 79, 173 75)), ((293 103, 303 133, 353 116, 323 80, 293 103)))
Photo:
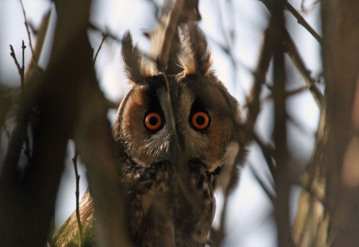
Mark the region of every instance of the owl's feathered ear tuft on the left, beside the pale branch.
POLYGON ((122 38, 122 59, 125 63, 127 77, 133 83, 144 81, 146 77, 153 76, 153 66, 146 63, 141 50, 133 46, 132 36, 127 31, 122 38))

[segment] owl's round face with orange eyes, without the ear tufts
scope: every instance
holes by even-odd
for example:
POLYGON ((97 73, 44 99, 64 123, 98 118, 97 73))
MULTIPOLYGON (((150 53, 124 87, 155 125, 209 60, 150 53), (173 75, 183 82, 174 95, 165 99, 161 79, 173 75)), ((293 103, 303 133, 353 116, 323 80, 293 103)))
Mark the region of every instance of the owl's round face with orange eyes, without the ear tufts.
POLYGON ((184 160, 200 159, 206 170, 214 171, 223 164, 231 141, 237 114, 233 99, 212 75, 183 72, 168 80, 172 111, 161 74, 136 83, 123 100, 118 128, 127 155, 140 166, 174 162, 177 136, 184 160), (171 112, 175 129, 169 122, 171 112))

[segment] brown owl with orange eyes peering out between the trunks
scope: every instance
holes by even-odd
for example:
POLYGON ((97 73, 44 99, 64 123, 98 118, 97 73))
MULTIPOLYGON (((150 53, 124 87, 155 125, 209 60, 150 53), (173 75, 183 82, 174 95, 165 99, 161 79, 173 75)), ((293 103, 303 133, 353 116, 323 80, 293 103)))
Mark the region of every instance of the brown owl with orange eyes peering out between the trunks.
POLYGON ((136 246, 205 246, 217 180, 223 166, 233 163, 233 149, 242 149, 239 104, 210 70, 204 34, 186 23, 179 37, 178 74, 158 72, 129 33, 123 38, 132 87, 113 133, 123 164, 128 233, 136 246))

